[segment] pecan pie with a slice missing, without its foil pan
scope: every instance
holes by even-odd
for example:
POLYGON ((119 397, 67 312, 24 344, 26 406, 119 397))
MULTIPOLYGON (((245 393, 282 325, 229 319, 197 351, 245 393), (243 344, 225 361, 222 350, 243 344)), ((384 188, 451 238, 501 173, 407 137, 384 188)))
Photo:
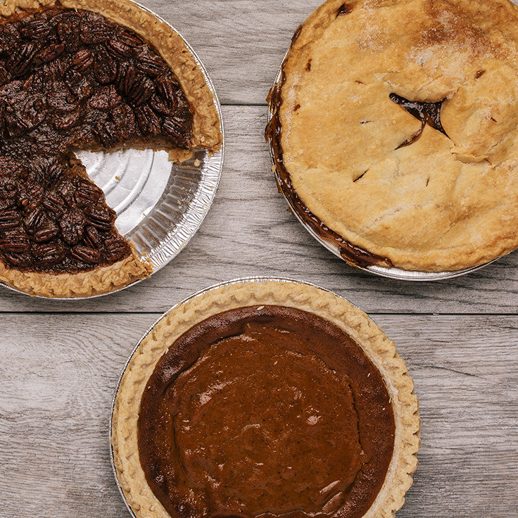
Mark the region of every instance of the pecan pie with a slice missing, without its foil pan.
POLYGON ((221 144, 213 97, 179 35, 122 0, 0 4, 0 280, 88 296, 151 266, 73 149, 221 144))

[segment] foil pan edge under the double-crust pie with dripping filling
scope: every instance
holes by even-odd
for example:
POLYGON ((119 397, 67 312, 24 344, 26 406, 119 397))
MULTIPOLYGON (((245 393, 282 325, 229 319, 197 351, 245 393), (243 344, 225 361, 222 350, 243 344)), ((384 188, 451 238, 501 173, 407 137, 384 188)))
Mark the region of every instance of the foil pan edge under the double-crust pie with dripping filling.
MULTIPOLYGON (((288 51, 289 52, 289 51, 288 51)), ((279 65, 279 70, 277 70, 277 75, 275 76, 273 88, 279 87, 279 84, 282 79, 282 65, 284 64, 284 61, 286 61, 286 57, 288 56, 288 52, 284 55, 284 58, 282 59, 281 65, 279 65)), ((268 116, 267 116, 267 122, 269 123, 270 120, 272 120, 272 117, 274 115, 274 108, 272 106, 272 103, 268 103, 268 116)), ((360 268, 360 270, 364 270, 365 272, 369 272, 371 274, 379 275, 380 277, 387 277, 388 279, 397 279, 401 281, 439 281, 443 279, 452 279, 453 277, 460 277, 461 275, 465 275, 467 273, 475 272, 476 270, 480 270, 481 268, 486 267, 487 265, 491 265, 491 263, 494 263, 499 258, 495 258, 488 263, 484 263, 482 265, 476 265, 469 268, 464 268, 462 270, 453 270, 453 271, 444 271, 444 272, 420 272, 416 270, 403 270, 403 268, 397 268, 397 267, 386 267, 381 265, 368 265, 368 266, 359 266, 359 265, 351 265, 348 263, 348 261, 343 258, 343 255, 340 253, 340 246, 336 241, 332 239, 324 239, 322 236, 317 234, 315 230, 310 227, 308 222, 303 220, 303 218, 298 215, 298 211, 296 210, 296 207, 293 206, 293 203, 291 200, 284 194, 284 190, 282 189, 282 179, 279 175, 279 171, 277 171, 277 166, 275 163, 274 158, 274 149, 272 146, 272 139, 268 138, 268 144, 270 149, 270 160, 272 162, 273 170, 275 179, 277 180, 277 186, 279 186, 279 190, 282 192, 282 195, 284 198, 286 198, 286 201, 289 204, 289 207, 291 209, 291 212, 299 222, 301 222, 301 225, 309 232, 311 236, 313 236, 321 245, 323 245, 327 250, 334 253, 337 257, 341 258, 344 263, 354 266, 357 268, 360 268)))

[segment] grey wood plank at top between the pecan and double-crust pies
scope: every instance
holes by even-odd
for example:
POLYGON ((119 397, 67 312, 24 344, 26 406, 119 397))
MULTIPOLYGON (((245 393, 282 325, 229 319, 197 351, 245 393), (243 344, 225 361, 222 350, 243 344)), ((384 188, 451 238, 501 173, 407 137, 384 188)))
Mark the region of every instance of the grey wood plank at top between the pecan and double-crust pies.
POLYGON ((144 0, 203 61, 224 104, 265 104, 298 25, 320 0, 144 0))

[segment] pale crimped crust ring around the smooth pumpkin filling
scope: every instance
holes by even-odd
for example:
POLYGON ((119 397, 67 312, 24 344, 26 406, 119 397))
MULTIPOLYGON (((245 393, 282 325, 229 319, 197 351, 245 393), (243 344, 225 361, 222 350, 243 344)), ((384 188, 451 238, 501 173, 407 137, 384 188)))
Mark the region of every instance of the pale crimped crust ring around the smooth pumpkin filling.
POLYGON ((184 331, 222 311, 248 305, 284 305, 312 312, 345 331, 379 369, 391 396, 396 436, 386 479, 364 518, 393 517, 417 467, 420 420, 413 381, 394 344, 352 304, 316 286, 244 279, 204 291, 174 306, 134 351, 115 397, 111 443, 118 481, 138 518, 170 518, 147 484, 139 460, 137 420, 146 383, 160 357, 184 331))

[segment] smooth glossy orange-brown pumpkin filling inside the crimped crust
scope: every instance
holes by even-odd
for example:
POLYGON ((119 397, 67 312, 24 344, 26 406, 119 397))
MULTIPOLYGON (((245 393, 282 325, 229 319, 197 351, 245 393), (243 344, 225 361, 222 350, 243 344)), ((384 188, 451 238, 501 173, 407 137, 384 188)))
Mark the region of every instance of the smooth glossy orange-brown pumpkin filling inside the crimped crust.
POLYGON ((384 380, 341 329, 283 306, 222 312, 160 358, 138 444, 173 517, 362 517, 395 424, 384 380))

